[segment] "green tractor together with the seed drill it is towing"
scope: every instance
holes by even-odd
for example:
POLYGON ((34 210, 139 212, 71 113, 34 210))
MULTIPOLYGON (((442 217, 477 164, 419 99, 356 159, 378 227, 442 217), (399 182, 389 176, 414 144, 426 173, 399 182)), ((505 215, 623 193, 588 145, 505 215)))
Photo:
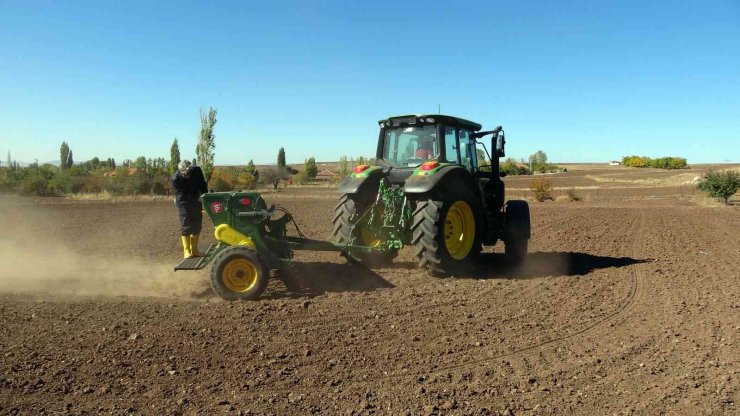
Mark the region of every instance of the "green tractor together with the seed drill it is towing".
POLYGON ((273 270, 288 284, 295 250, 336 251, 351 263, 374 266, 412 246, 419 266, 444 275, 467 270, 484 245, 501 240, 506 258, 520 262, 530 237, 529 206, 504 199, 504 144, 501 127, 481 131, 457 117, 381 120, 375 164, 354 167, 338 186, 335 241, 306 238, 287 210, 268 207, 257 192, 209 192, 203 211, 217 242, 175 270, 212 264, 214 292, 238 300, 258 298, 273 270), (485 136, 492 154, 479 140, 485 136), (297 235, 288 235, 290 224, 297 235))

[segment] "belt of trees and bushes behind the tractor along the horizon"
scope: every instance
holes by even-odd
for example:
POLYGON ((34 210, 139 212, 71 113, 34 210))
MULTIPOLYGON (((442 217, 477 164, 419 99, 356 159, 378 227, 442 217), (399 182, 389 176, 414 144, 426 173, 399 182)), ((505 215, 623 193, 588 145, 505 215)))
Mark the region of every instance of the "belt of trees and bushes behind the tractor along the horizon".
MULTIPOLYGON (((208 187, 214 191, 235 189, 254 189, 258 186, 270 186, 277 189, 281 183, 306 184, 317 177, 318 166, 314 157, 304 160, 301 170, 287 165, 285 148, 277 154, 275 166, 258 170, 253 160, 243 167, 214 167, 215 135, 217 110, 201 111, 201 130, 196 146, 194 164, 203 169, 208 187)), ((33 164, 21 168, 10 159, 6 168, 0 167, 0 192, 25 195, 65 195, 79 193, 107 192, 111 195, 166 195, 170 193, 170 177, 177 170, 182 160, 177 138, 170 146, 169 160, 165 158, 146 158, 140 156, 134 160, 126 159, 120 164, 114 158, 100 159, 94 157, 84 162, 74 162, 73 150, 69 143, 62 142, 60 164, 33 164)), ((375 158, 360 156, 339 159, 338 169, 333 172, 334 182, 351 173, 358 165, 372 165, 375 158)), ((487 163, 487 162, 486 162, 487 163)), ((481 166, 485 163, 481 162, 481 166)), ((509 175, 523 175, 535 172, 547 172, 559 169, 547 162, 547 155, 538 151, 530 156, 529 164, 507 159, 501 164, 501 171, 509 175), (529 166, 529 167, 528 167, 529 166)))

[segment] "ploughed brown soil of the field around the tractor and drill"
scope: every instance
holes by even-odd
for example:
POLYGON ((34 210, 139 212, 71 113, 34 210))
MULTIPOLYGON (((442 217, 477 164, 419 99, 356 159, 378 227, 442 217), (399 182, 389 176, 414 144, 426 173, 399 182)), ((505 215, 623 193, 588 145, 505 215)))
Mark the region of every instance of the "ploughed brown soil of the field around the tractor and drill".
MULTIPOLYGON (((330 237, 331 191, 267 198, 330 237)), ((737 208, 533 204, 520 268, 301 252, 309 293, 229 303, 171 202, 41 202, 0 200, 0 414, 738 413, 737 208)))

